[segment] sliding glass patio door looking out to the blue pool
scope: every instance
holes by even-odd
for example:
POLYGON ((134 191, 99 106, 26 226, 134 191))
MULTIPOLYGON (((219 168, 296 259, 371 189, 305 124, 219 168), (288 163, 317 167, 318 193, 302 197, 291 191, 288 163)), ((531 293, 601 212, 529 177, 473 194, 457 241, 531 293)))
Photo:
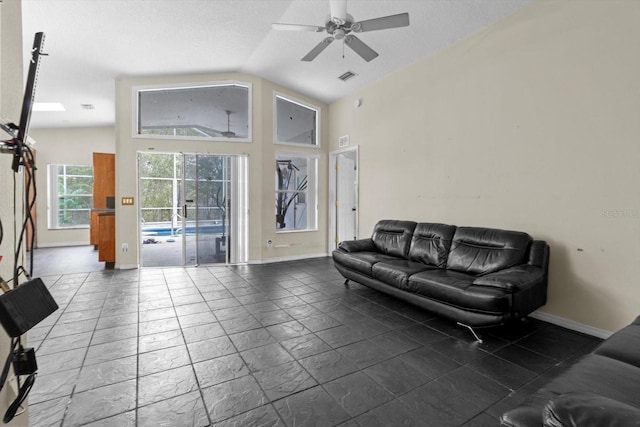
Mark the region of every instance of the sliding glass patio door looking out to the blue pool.
POLYGON ((140 265, 246 261, 246 157, 138 153, 140 265))

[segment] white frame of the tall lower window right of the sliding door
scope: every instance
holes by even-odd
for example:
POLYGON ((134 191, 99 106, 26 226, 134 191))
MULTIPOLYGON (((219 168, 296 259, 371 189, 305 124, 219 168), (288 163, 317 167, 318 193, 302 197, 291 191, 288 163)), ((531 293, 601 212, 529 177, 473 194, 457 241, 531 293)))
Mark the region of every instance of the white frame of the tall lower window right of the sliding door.
MULTIPOLYGON (((289 158, 300 158, 307 160, 307 188, 300 193, 305 195, 306 205, 307 205, 307 226, 305 228, 278 228, 277 225, 277 205, 274 206, 274 213, 276 215, 276 223, 274 224, 275 232, 278 234, 286 234, 286 233, 304 233, 304 232, 314 232, 318 231, 318 163, 320 156, 317 154, 307 154, 307 153, 298 153, 298 152, 276 152, 274 161, 277 162, 283 157, 289 158)), ((276 163, 277 165, 277 163, 276 163)), ((276 176, 274 176, 274 202, 277 200, 278 193, 290 190, 279 190, 277 184, 277 172, 276 176)))

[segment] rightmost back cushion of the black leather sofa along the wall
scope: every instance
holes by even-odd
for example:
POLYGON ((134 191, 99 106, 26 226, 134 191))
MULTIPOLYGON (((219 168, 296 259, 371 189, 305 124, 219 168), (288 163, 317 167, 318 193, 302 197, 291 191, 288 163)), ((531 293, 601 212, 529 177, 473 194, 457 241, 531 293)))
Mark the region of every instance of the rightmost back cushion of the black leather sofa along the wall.
POLYGON ((504 270, 526 262, 532 240, 520 231, 458 227, 447 268, 475 275, 504 270))

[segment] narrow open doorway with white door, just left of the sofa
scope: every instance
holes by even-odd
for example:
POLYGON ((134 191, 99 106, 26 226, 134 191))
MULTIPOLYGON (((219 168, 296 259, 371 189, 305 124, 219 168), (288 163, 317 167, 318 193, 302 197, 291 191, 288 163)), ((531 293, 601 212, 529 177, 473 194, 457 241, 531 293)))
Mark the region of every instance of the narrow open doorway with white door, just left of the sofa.
POLYGON ((358 238, 358 147, 330 153, 329 248, 358 238))

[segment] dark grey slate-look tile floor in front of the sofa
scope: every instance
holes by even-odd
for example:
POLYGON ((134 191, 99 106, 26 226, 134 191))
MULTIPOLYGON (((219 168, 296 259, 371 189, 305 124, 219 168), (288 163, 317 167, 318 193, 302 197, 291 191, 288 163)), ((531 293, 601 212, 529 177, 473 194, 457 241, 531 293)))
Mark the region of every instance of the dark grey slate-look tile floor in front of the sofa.
POLYGON ((495 426, 598 339, 483 331, 345 287, 330 258, 44 276, 31 426, 495 426))

